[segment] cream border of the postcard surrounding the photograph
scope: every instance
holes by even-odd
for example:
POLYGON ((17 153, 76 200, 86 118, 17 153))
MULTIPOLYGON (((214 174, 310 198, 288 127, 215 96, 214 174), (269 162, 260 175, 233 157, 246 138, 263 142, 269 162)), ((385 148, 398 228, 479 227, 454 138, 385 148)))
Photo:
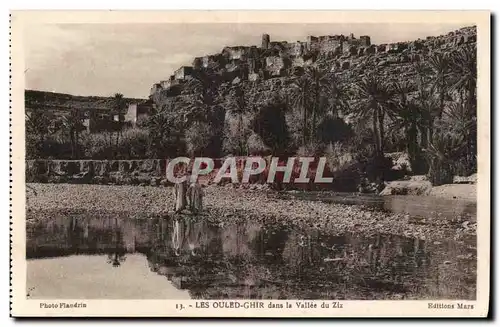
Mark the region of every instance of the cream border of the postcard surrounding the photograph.
MULTIPOLYGON (((490 289, 490 12, 488 11, 13 11, 11 12, 12 217, 11 314, 21 316, 121 317, 478 317, 486 316, 490 289), (28 300, 25 260, 24 51, 25 24, 43 23, 463 23, 477 26, 478 228, 476 301, 339 301, 342 308, 196 308, 201 301, 28 300), (85 308, 44 309, 43 302, 83 303, 85 308), (474 309, 429 309, 429 303, 473 304, 474 309), (185 309, 176 309, 182 304, 185 309), (192 307, 189 307, 191 305, 192 307)), ((243 303, 245 301, 209 301, 243 303)), ((311 301, 300 301, 307 303, 311 301)), ((322 302, 312 301, 320 306, 322 302)))

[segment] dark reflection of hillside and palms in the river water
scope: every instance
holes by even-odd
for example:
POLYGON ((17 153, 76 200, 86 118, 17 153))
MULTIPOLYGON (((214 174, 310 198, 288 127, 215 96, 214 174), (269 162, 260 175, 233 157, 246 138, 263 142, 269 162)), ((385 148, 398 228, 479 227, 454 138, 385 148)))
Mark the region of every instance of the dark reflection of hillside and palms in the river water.
POLYGON ((28 258, 106 254, 120 267, 134 252, 193 298, 475 299, 475 244, 184 218, 54 215, 28 228, 28 258))

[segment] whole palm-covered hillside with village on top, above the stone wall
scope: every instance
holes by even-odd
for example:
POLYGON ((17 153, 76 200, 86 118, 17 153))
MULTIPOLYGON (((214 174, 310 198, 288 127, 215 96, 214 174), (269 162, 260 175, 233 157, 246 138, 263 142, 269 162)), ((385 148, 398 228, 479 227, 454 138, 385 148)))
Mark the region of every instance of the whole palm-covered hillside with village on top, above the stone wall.
MULTIPOLYGON (((451 183, 477 170, 476 52, 474 26, 378 45, 368 35, 288 43, 264 34, 260 46, 194 58, 155 83, 149 100, 127 99, 153 102, 153 115, 114 142, 33 121, 31 157, 321 155, 355 183, 380 187, 405 174, 451 183), (386 160, 394 153, 407 157, 397 172, 386 160)), ((26 91, 27 107, 109 110, 110 100, 26 91)))

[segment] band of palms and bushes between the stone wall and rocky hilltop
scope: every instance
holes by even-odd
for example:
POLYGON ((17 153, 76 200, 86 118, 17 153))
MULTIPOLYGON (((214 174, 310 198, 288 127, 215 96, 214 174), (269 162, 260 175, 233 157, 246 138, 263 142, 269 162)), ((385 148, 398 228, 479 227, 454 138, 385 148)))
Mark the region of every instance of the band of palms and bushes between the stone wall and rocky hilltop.
POLYGON ((377 67, 346 80, 322 60, 295 72, 287 85, 264 97, 256 97, 251 82, 223 83, 215 70, 202 70, 184 86, 183 96, 156 101, 149 118, 132 129, 123 128, 126 104, 121 94, 113 98, 118 126, 108 132, 86 132, 86 116, 77 109, 59 117, 32 110, 26 116, 27 155, 322 155, 329 158, 331 171, 357 163, 360 174, 381 182, 390 169, 386 154, 406 152, 411 171, 428 174, 436 185, 476 171, 474 46, 434 51, 412 64, 414 76, 397 81, 385 78, 377 67))

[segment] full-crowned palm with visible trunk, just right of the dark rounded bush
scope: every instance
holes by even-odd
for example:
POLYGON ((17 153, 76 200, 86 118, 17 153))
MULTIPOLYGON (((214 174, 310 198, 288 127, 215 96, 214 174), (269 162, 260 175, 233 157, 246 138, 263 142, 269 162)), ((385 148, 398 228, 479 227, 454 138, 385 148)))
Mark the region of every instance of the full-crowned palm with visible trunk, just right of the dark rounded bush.
POLYGON ((391 90, 375 75, 363 78, 355 85, 358 100, 355 103, 358 119, 372 118, 375 152, 377 157, 384 155, 384 120, 393 106, 391 90))

